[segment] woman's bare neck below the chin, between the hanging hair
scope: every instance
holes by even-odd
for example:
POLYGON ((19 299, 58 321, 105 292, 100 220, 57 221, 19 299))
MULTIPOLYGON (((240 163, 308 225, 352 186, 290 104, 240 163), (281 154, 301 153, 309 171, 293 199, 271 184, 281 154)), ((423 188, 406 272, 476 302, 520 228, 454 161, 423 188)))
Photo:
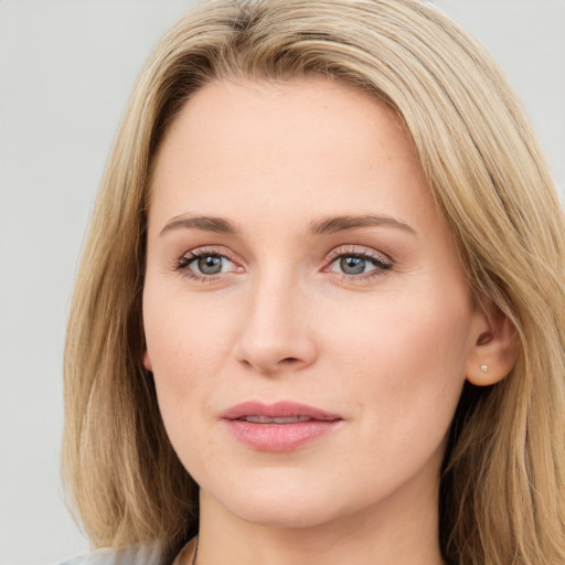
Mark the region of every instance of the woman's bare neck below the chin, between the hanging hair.
POLYGON ((201 491, 196 565, 440 565, 438 491, 419 487, 307 527, 244 521, 201 491))

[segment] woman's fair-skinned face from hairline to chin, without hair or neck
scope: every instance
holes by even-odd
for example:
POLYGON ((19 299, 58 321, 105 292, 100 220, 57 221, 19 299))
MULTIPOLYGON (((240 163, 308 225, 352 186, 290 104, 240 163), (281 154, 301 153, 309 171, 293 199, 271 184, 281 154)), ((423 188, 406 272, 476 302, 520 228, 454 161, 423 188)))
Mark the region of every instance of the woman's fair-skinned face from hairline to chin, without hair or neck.
POLYGON ((486 320, 369 94, 308 78, 190 99, 157 156, 143 320, 205 503, 281 526, 436 504, 486 320))

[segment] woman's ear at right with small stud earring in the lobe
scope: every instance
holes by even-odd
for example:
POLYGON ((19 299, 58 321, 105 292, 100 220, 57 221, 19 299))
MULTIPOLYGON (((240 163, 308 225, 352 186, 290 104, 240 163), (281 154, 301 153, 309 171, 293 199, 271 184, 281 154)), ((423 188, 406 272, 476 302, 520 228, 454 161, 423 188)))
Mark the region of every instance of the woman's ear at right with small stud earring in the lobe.
POLYGON ((467 380, 476 386, 502 381, 514 366, 518 333, 509 318, 491 305, 487 312, 477 312, 475 347, 467 360, 467 380))

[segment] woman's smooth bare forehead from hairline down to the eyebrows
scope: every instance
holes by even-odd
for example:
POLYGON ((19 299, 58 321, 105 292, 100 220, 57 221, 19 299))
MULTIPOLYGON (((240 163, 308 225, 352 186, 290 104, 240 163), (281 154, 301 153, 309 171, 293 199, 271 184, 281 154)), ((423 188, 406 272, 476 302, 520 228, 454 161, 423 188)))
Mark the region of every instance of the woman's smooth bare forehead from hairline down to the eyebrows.
POLYGON ((277 215, 309 205, 366 213, 369 202, 374 212, 419 214, 431 204, 399 116, 366 92, 319 77, 202 88, 172 121, 153 171, 150 210, 171 214, 194 201, 204 213, 253 203, 277 215))

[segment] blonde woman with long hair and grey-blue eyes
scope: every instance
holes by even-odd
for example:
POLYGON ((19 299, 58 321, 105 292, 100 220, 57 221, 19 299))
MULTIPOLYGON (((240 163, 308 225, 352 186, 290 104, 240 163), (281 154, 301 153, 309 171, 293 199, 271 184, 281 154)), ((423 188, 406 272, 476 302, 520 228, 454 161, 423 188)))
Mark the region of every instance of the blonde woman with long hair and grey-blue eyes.
POLYGON ((559 210, 505 78, 434 8, 183 18, 68 328, 94 563, 563 563, 559 210))

